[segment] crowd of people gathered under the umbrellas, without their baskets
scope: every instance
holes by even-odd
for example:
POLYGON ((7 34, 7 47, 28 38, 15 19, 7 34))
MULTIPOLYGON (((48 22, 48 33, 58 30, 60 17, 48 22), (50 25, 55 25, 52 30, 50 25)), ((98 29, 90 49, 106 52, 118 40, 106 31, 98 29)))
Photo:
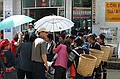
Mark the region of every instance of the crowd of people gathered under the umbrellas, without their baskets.
POLYGON ((103 34, 68 35, 62 31, 53 35, 46 28, 40 28, 36 35, 31 26, 24 34, 15 34, 11 42, 8 39, 0 42, 3 79, 25 79, 25 76, 26 79, 47 79, 45 74, 51 74, 51 70, 54 79, 107 79, 106 62, 94 68, 91 76, 83 77, 77 72, 80 54, 89 54, 89 48, 101 50, 100 45, 105 45, 103 34), (48 62, 52 64, 49 66, 48 62))

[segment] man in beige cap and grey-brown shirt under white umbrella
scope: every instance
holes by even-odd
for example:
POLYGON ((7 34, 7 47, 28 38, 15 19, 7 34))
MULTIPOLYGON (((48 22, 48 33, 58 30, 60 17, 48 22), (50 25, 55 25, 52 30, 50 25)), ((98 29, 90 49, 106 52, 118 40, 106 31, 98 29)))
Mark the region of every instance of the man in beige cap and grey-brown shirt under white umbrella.
POLYGON ((47 32, 45 28, 38 30, 39 38, 36 38, 32 46, 33 78, 45 79, 45 68, 48 71, 47 64, 47 32))

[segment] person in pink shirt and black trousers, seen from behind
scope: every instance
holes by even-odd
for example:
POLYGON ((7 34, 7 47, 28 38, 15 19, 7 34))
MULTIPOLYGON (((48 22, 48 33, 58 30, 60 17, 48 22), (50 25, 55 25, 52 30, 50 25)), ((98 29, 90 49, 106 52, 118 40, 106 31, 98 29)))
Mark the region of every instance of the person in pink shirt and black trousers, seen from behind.
POLYGON ((55 74, 54 79, 66 79, 66 69, 69 54, 67 52, 67 43, 61 43, 56 47, 54 44, 53 53, 57 53, 58 56, 55 60, 55 74))

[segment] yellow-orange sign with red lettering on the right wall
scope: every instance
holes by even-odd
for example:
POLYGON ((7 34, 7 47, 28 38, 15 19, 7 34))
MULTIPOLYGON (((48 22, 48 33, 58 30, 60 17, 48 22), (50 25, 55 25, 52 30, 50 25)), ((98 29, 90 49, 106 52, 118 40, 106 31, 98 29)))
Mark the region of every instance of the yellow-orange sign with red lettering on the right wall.
POLYGON ((106 2, 106 22, 120 22, 120 2, 106 2))

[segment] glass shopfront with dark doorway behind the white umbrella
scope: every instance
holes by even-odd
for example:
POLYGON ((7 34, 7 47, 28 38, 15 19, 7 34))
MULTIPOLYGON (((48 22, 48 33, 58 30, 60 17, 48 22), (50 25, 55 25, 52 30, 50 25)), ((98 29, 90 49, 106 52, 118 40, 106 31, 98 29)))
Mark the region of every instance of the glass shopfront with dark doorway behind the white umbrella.
POLYGON ((75 29, 87 29, 91 26, 91 5, 91 0, 23 0, 22 14, 35 21, 52 14, 64 16, 75 23, 75 29))

